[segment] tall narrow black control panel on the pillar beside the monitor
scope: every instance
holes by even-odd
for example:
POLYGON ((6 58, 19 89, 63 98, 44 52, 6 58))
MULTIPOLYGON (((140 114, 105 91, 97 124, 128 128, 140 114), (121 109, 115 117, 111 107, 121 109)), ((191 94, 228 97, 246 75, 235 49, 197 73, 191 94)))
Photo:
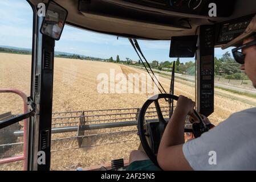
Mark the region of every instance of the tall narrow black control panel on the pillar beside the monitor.
POLYGON ((214 26, 201 26, 197 51, 197 108, 208 117, 214 111, 214 26))

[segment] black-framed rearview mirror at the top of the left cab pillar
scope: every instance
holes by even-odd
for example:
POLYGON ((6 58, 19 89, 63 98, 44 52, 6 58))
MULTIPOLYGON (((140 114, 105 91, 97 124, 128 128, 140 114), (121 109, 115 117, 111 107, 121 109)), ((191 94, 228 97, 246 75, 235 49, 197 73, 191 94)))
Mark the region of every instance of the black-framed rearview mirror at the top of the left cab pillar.
POLYGON ((44 16, 40 32, 50 36, 52 39, 59 40, 67 19, 67 14, 67 10, 62 6, 54 1, 48 2, 46 16, 44 16))

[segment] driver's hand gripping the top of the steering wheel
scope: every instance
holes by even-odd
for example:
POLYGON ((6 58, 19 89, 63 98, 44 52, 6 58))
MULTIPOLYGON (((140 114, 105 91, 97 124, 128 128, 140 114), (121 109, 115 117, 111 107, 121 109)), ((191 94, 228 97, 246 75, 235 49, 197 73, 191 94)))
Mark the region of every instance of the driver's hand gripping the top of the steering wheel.
POLYGON ((185 112, 187 115, 193 115, 194 114, 194 106, 196 103, 192 101, 190 98, 185 96, 178 96, 178 101, 176 108, 180 108, 185 112))

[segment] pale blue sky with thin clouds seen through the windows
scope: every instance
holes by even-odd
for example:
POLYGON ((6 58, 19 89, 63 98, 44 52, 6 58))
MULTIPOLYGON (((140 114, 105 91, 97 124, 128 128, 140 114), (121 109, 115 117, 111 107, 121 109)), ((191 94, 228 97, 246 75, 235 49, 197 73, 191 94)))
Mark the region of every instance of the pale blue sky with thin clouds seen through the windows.
MULTIPOLYGON (((170 41, 138 40, 145 57, 149 60, 173 61, 169 58, 170 41)), ((25 0, 0 1, 0 45, 31 48, 32 45, 32 10, 25 0)), ((65 26, 62 38, 56 41, 55 51, 79 53, 86 56, 107 59, 116 55, 121 60, 129 57, 139 60, 134 49, 126 38, 84 31, 71 26, 65 26)), ((223 51, 216 48, 215 56, 221 57, 223 51)), ((194 60, 180 59, 181 62, 194 60)))

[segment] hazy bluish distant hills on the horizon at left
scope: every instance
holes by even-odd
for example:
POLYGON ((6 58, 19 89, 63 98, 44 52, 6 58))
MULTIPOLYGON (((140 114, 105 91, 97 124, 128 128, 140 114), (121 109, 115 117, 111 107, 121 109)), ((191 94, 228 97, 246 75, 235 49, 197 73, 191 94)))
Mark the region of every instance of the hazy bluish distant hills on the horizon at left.
MULTIPOLYGON (((30 48, 0 46, 0 52, 31 54, 32 50, 30 48)), ((79 54, 76 54, 76 53, 60 52, 60 51, 55 51, 54 55, 56 57, 66 57, 66 58, 72 58, 72 59, 104 60, 104 59, 101 59, 101 58, 98 58, 98 57, 84 56, 84 55, 79 55, 79 54)))

